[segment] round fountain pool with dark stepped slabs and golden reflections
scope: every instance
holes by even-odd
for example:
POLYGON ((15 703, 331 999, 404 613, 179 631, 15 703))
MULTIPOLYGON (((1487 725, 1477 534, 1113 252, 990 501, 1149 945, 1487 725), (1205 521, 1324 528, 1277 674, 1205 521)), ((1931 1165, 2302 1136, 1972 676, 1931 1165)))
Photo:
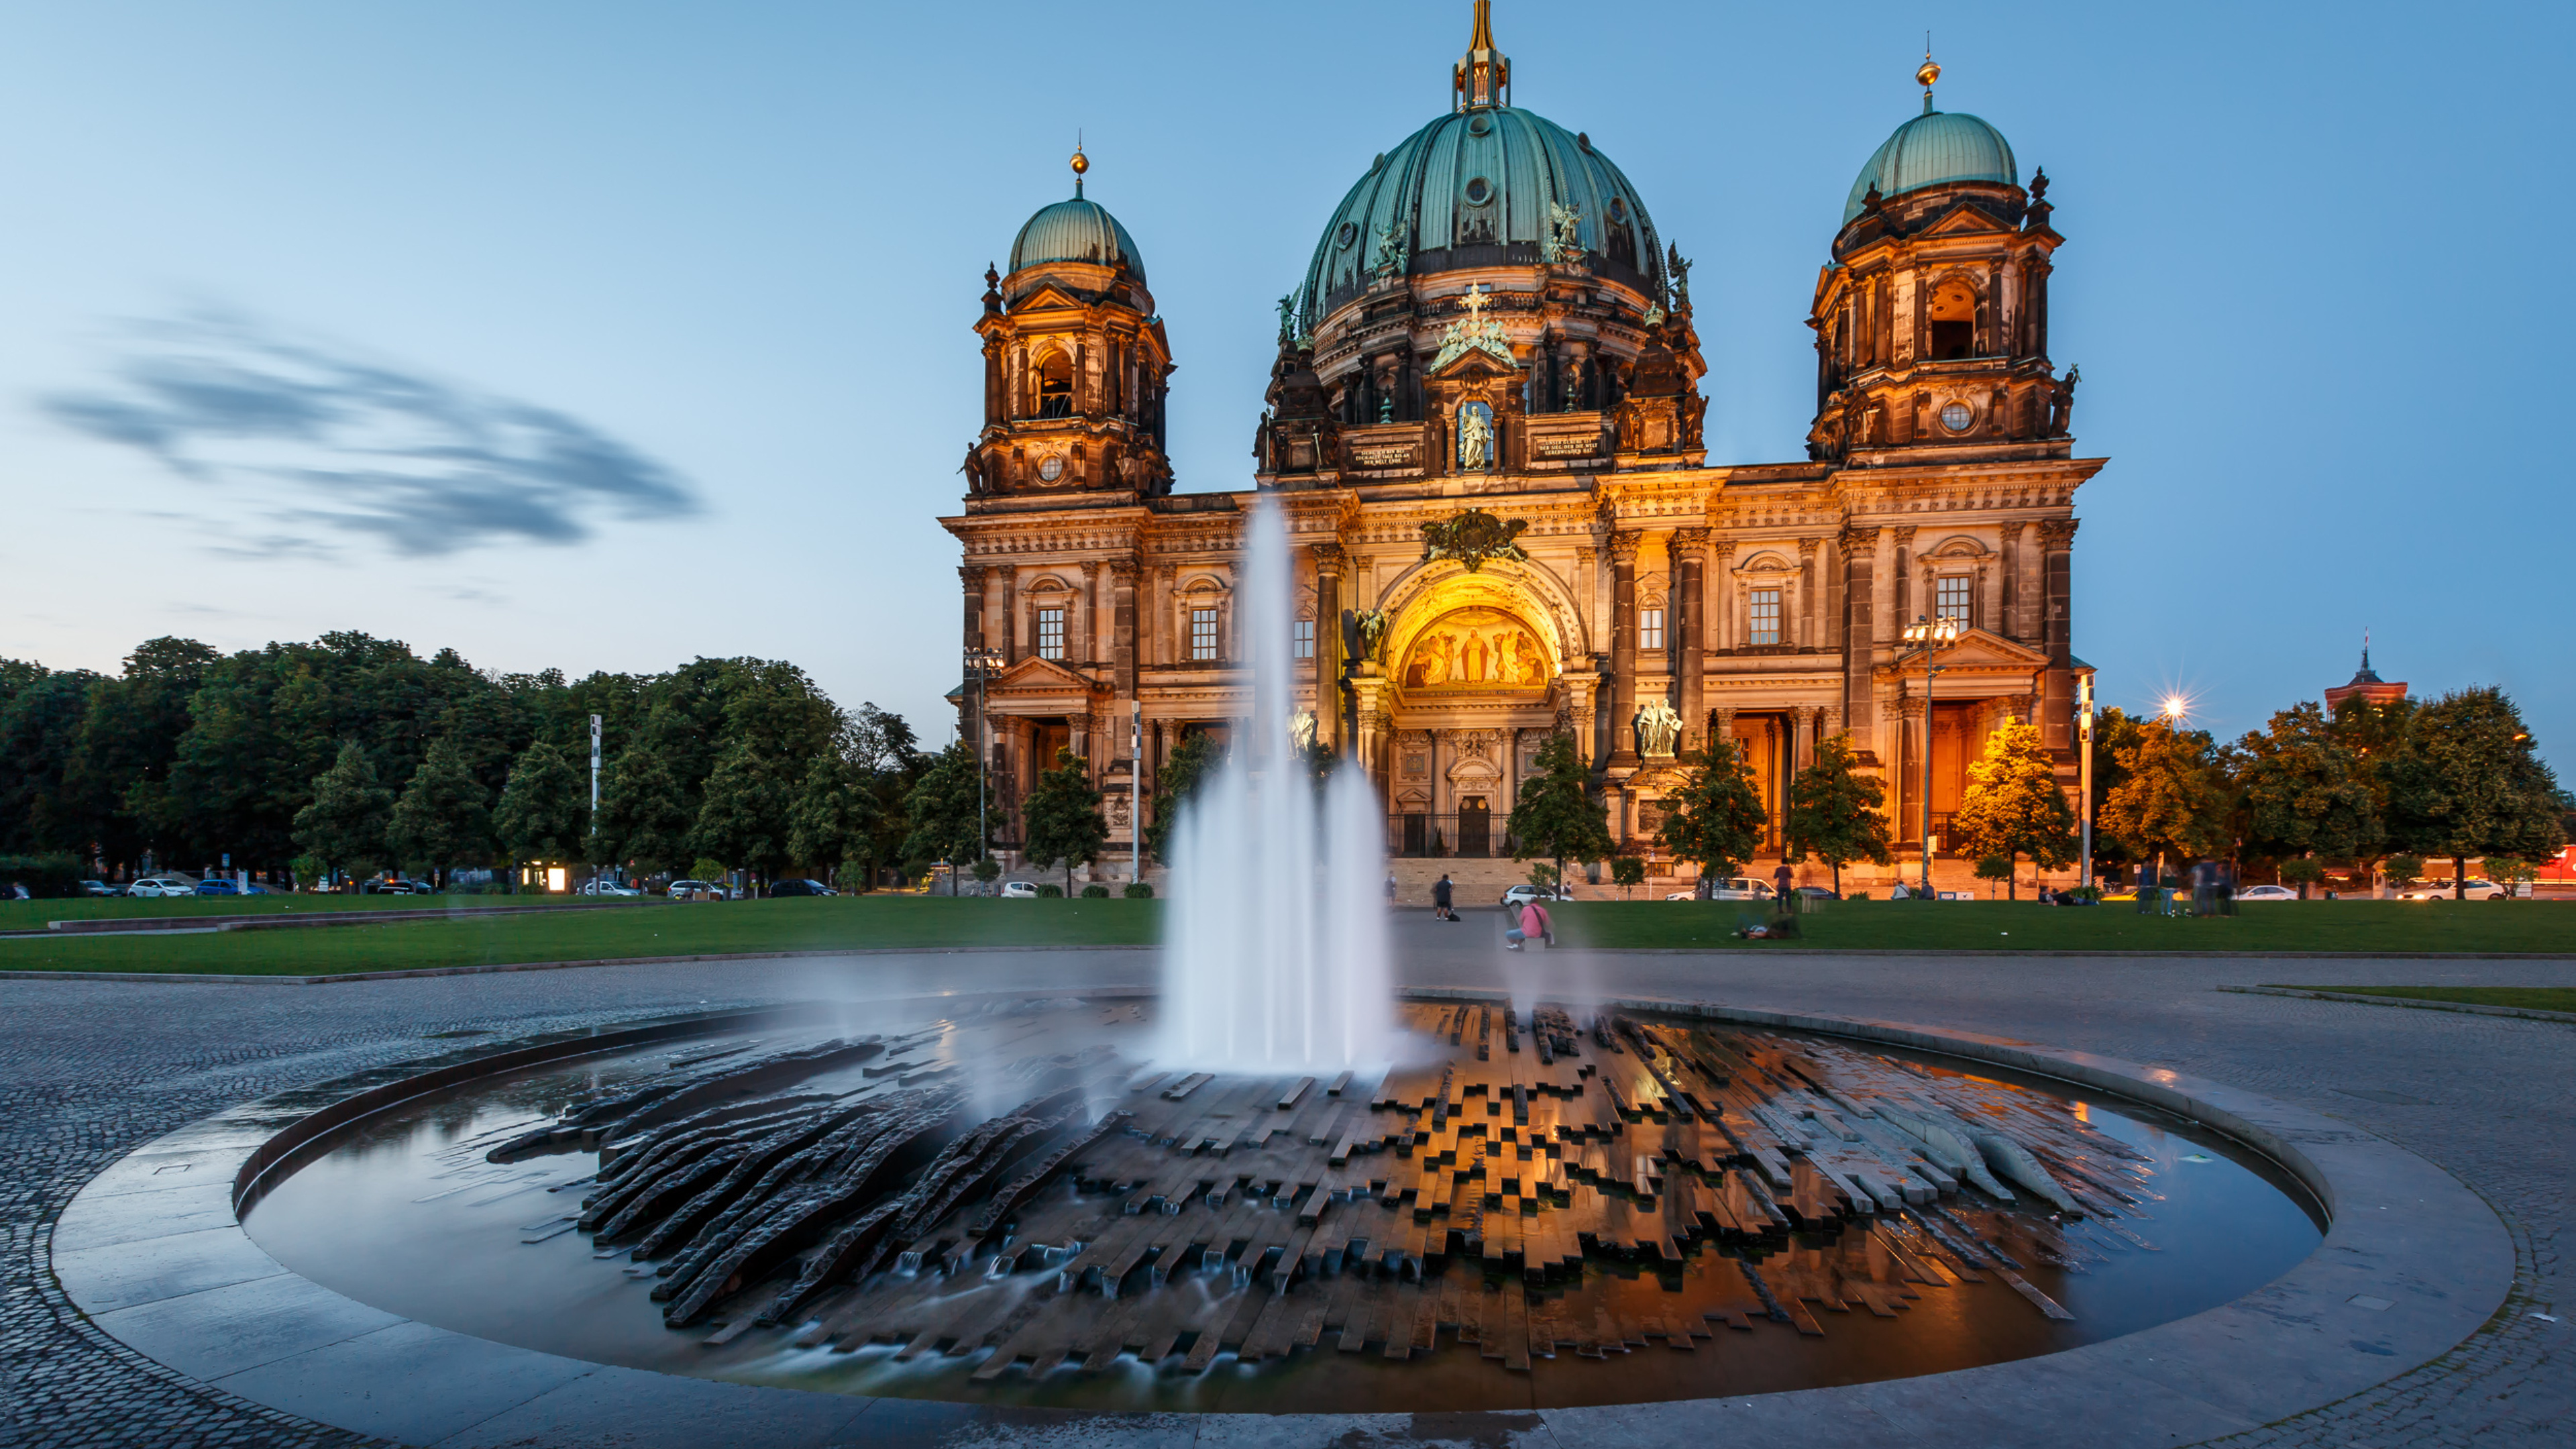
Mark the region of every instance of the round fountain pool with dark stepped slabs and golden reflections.
POLYGON ((2264 1158, 1986 1065, 1412 1000, 1394 1067, 1188 1073, 1149 1065, 1151 1011, 817 1011, 487 1075, 307 1142, 242 1225, 358 1302, 572 1359, 1249 1413, 1965 1369, 2321 1240, 2264 1158))

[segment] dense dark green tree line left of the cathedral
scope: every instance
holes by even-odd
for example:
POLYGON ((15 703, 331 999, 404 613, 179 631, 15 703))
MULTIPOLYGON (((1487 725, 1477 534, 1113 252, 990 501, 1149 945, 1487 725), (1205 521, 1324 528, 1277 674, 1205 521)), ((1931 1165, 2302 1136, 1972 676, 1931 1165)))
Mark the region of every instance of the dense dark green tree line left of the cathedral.
POLYGON ((307 884, 528 861, 868 884, 976 859, 974 776, 969 748, 925 753, 899 714, 842 709, 781 660, 572 681, 348 632, 232 655, 149 639, 116 676, 0 660, 0 856, 54 874, 229 856, 307 884))

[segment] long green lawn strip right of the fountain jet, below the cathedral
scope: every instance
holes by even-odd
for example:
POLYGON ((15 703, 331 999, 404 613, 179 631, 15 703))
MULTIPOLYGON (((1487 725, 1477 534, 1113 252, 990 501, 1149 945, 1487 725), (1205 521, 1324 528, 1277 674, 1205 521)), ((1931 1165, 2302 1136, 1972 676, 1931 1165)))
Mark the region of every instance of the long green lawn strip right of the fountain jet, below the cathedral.
POLYGON ((1739 951, 2550 951, 2576 954, 2576 905, 2555 900, 2311 900, 2244 905, 2208 920, 2136 905, 1855 900, 1798 918, 1798 941, 1736 941, 1759 908, 1731 900, 1574 900, 1556 908, 1574 944, 1739 951))

